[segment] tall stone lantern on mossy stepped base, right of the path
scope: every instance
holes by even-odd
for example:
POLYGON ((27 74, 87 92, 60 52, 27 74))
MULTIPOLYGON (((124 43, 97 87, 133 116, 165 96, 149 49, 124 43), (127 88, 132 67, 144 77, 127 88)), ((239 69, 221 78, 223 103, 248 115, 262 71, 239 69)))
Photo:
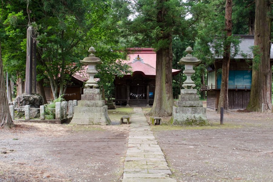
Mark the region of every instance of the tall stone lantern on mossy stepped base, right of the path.
POLYGON ((190 78, 195 73, 193 66, 197 66, 201 60, 190 54, 192 52, 191 47, 188 47, 186 52, 188 53, 186 57, 181 58, 177 62, 179 65, 185 65, 183 73, 187 76, 187 79, 183 82, 182 87, 184 89, 181 89, 179 101, 175 101, 175 106, 173 106, 171 123, 175 125, 188 125, 188 123, 198 123, 201 121, 204 123, 203 125, 207 125, 206 108, 203 107, 203 102, 199 101, 197 90, 193 89, 195 87, 194 81, 190 78))

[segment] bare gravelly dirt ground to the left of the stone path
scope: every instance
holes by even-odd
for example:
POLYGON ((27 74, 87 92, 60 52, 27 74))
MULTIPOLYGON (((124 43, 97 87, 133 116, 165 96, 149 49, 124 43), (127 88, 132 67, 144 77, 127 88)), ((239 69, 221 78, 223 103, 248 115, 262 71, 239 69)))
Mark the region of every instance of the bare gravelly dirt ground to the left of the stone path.
POLYGON ((120 181, 129 126, 15 124, 0 129, 1 182, 120 181))

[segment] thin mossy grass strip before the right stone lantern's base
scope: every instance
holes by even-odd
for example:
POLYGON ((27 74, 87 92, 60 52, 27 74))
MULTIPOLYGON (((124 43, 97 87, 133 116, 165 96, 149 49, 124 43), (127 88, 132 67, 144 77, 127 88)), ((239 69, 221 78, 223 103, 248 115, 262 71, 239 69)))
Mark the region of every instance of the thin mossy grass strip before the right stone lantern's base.
POLYGON ((170 126, 170 125, 157 125, 151 126, 153 131, 163 131, 163 130, 215 130, 215 129, 237 129, 245 127, 243 125, 236 124, 223 124, 220 123, 211 123, 211 126, 170 126))

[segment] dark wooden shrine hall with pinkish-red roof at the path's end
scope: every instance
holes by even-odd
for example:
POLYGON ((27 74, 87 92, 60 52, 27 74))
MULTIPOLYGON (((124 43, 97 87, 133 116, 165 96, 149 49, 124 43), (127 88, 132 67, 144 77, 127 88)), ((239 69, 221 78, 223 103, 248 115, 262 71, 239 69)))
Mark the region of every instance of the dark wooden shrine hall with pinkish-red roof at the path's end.
MULTIPOLYGON (((149 106, 153 105, 155 96, 156 52, 152 48, 130 49, 129 59, 124 61, 131 66, 133 75, 116 77, 116 105, 149 106)), ((173 69, 177 75, 181 70, 173 69)))

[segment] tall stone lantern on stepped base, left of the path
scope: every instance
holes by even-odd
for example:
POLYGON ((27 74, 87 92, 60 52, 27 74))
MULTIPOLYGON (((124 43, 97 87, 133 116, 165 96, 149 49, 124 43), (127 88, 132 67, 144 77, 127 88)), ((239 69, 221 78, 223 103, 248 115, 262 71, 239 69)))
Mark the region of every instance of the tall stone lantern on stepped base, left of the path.
POLYGON ((81 100, 74 108, 74 115, 70 124, 107 125, 111 123, 107 106, 105 101, 101 99, 99 89, 96 89, 98 87, 97 82, 94 80, 94 76, 98 72, 96 64, 101 64, 102 61, 93 54, 96 52, 93 47, 90 47, 88 52, 90 52, 89 57, 80 60, 80 62, 88 65, 86 72, 89 74, 89 80, 85 84, 81 100))

